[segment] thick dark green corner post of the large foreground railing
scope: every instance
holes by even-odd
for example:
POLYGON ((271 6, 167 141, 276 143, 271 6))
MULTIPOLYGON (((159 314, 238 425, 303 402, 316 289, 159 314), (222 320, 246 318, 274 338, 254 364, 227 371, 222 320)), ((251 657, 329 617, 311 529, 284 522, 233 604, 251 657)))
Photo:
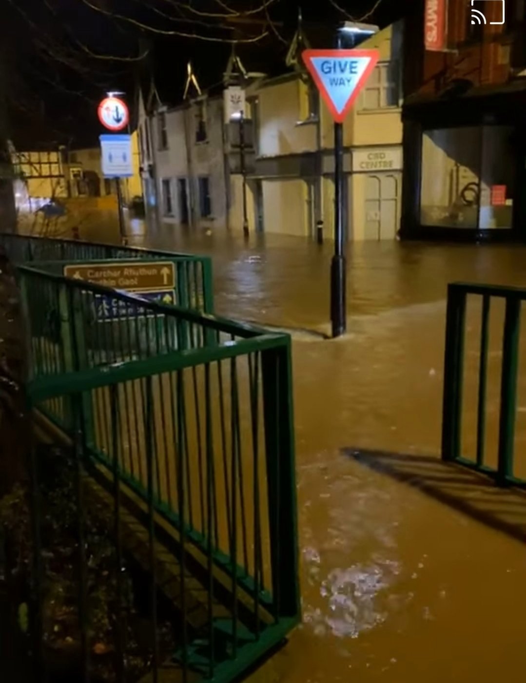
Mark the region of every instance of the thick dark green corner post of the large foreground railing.
POLYGON ((291 339, 261 352, 274 617, 297 617, 299 578, 291 339))

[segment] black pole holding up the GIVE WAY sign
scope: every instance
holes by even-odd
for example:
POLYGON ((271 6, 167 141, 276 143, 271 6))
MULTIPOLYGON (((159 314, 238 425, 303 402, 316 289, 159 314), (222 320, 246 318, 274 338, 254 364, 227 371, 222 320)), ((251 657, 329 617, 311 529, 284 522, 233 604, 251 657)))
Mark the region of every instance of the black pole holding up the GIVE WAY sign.
MULTIPOLYGON (((341 49, 338 31, 336 48, 341 49)), ((347 259, 343 199, 343 124, 334 124, 334 256, 331 262, 331 322, 332 336, 340 337, 347 329, 347 259)))

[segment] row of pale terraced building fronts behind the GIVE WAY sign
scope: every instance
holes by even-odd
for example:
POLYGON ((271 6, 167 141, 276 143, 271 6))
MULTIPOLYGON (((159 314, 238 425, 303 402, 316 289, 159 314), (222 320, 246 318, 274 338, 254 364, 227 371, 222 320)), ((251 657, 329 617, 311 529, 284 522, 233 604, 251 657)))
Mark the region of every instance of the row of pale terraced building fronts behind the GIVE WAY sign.
MULTIPOLYGON (((402 197, 403 25, 370 36, 379 64, 344 124, 349 240, 394 239, 402 197)), ((159 219, 213 229, 315 236, 334 224, 334 131, 304 69, 245 87, 245 120, 225 122, 222 94, 139 107, 145 197, 159 219), (240 126, 243 126, 244 164, 240 126), (245 167, 246 182, 242 176, 245 167), (244 202, 244 193, 246 201, 244 202)))

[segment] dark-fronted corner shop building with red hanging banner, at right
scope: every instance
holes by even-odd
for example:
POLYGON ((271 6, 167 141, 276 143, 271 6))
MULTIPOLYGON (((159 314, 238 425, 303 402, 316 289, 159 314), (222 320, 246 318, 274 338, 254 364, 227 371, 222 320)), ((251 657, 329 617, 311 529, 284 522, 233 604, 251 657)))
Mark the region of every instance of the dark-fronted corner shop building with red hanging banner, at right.
POLYGON ((406 35, 400 235, 525 240, 525 3, 425 0, 406 35))

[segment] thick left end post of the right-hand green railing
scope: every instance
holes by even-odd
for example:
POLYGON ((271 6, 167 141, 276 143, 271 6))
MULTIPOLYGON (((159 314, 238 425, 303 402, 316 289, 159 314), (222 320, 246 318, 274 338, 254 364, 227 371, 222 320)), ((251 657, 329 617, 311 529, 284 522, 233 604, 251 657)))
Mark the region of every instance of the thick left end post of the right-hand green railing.
POLYGON ((462 382, 466 293, 448 285, 442 421, 442 460, 456 460, 461 447, 462 382))

